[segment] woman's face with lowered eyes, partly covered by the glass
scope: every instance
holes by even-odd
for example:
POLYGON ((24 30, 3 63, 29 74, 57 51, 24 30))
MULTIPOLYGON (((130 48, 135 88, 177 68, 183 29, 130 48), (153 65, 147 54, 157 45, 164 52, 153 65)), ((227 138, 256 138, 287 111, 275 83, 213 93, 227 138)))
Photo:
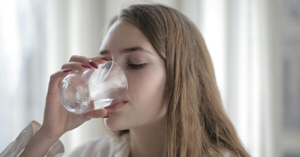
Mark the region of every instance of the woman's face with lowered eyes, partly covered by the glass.
POLYGON ((105 118, 109 129, 143 127, 165 115, 164 60, 136 26, 115 22, 104 38, 100 55, 120 65, 128 80, 127 103, 117 110, 107 110, 111 114, 105 118))

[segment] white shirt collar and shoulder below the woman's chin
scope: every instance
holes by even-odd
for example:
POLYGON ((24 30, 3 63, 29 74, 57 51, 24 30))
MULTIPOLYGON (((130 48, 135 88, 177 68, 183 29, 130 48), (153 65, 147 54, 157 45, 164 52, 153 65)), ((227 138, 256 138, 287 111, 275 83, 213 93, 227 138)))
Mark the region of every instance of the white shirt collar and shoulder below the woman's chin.
POLYGON ((129 133, 120 137, 96 137, 76 147, 69 156, 128 156, 130 151, 129 133))

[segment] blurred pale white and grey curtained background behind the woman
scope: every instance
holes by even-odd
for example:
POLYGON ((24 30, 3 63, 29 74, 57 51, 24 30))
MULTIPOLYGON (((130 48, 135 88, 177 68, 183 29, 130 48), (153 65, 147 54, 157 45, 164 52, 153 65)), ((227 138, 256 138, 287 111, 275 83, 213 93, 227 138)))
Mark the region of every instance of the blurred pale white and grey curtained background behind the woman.
MULTIPOLYGON (((42 123, 50 75, 72 55, 97 55, 104 25, 135 3, 166 4, 198 26, 251 156, 300 157, 300 0, 0 0, 0 152, 42 123)), ((67 132, 65 155, 100 135, 101 119, 67 132)))

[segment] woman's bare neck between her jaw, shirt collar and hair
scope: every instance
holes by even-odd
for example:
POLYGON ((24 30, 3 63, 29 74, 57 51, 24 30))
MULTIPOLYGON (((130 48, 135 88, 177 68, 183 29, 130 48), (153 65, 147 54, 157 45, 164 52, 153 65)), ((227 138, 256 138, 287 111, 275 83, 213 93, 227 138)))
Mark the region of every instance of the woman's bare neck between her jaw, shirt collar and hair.
POLYGON ((130 129, 129 157, 163 156, 166 138, 166 117, 147 126, 130 129))

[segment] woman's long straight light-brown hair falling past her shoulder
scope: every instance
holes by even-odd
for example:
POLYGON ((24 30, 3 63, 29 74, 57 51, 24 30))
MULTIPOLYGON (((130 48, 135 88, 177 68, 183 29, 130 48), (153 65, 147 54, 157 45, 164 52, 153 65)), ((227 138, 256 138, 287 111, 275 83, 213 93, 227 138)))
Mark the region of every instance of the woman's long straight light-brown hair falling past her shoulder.
MULTIPOLYGON (((137 26, 165 62, 167 137, 164 156, 249 156, 226 115, 214 68, 196 25, 163 5, 135 4, 117 20, 137 26)), ((120 135, 128 130, 120 131, 120 135)))

